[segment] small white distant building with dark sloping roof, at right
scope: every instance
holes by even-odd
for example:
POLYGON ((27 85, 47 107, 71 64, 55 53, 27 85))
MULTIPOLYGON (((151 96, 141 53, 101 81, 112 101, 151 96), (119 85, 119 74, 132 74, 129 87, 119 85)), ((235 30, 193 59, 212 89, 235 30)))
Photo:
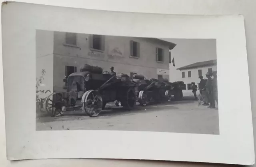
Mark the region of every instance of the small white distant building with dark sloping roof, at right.
POLYGON ((217 60, 209 60, 204 62, 196 62, 177 68, 180 70, 180 81, 183 81, 187 87, 186 89, 191 89, 191 82, 198 84, 200 82, 199 76, 203 76, 206 79, 206 73, 217 71, 217 60))

